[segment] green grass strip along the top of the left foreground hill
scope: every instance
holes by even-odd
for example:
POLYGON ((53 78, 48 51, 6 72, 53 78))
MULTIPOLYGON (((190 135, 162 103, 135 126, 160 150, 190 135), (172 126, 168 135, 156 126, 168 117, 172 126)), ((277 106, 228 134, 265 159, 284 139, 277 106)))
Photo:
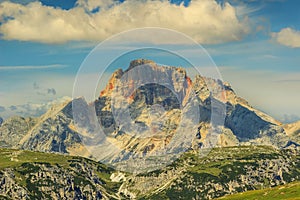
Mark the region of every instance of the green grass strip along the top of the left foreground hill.
MULTIPOLYGON (((51 167, 59 166, 59 168, 69 171, 71 174, 76 173, 77 163, 86 163, 90 166, 94 173, 98 176, 102 183, 102 186, 108 193, 114 194, 118 191, 121 183, 112 182, 110 176, 114 169, 103 165, 99 162, 92 161, 87 158, 78 156, 68 156, 54 153, 42 153, 15 149, 2 149, 0 148, 0 172, 5 168, 10 168, 14 171, 17 179, 16 181, 24 187, 28 187, 26 182, 28 181, 22 173, 36 172, 38 168, 35 168, 32 164, 37 163, 40 165, 46 165, 51 167), (32 171, 33 170, 33 171, 32 171), (22 173, 20 173, 22 172, 22 173)), ((84 175, 75 177, 80 181, 88 183, 84 175)), ((0 199, 3 197, 0 196, 0 199)))

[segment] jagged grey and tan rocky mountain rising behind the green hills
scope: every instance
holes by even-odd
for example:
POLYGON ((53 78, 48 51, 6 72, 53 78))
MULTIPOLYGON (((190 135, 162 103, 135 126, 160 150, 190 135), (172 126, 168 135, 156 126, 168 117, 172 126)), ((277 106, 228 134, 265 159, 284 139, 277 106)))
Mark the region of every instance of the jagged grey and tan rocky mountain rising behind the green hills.
POLYGON ((200 75, 192 80, 184 68, 138 59, 116 70, 94 102, 78 98, 39 118, 6 120, 0 145, 93 157, 122 169, 133 158, 170 156, 156 165, 190 149, 283 147, 296 138, 293 127, 253 108, 228 83, 200 75))

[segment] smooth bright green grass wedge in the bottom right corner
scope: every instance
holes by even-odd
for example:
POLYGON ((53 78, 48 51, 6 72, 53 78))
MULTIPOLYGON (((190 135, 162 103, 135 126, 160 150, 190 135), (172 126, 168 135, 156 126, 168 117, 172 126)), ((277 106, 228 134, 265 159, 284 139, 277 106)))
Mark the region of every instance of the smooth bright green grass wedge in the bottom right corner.
POLYGON ((274 188, 248 191, 221 197, 219 199, 224 200, 275 200, 275 199, 286 199, 286 200, 297 200, 300 199, 300 182, 293 182, 286 185, 277 186, 274 188))

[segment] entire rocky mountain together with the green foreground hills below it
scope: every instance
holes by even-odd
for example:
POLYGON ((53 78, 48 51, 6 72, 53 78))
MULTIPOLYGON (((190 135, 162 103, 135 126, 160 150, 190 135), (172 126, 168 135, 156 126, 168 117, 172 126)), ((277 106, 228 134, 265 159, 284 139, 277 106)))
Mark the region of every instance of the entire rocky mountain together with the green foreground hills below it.
POLYGON ((93 102, 3 121, 0 199, 213 199, 275 187, 300 180, 299 130, 229 83, 138 59, 93 102))

